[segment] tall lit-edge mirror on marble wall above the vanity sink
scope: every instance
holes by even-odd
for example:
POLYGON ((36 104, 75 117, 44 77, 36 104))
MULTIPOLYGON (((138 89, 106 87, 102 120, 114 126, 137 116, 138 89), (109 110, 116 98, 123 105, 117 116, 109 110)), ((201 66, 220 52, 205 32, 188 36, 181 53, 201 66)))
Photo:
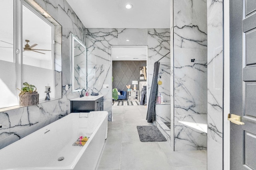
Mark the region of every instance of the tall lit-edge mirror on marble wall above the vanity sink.
POLYGON ((72 92, 86 89, 86 47, 71 34, 71 81, 72 92))

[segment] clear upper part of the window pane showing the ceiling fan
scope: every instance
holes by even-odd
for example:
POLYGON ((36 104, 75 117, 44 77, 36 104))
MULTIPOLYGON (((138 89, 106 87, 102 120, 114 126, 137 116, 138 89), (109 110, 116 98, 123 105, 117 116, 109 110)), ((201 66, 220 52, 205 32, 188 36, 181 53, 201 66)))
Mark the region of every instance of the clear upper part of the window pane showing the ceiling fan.
POLYGON ((52 69, 54 25, 22 6, 23 64, 52 69))

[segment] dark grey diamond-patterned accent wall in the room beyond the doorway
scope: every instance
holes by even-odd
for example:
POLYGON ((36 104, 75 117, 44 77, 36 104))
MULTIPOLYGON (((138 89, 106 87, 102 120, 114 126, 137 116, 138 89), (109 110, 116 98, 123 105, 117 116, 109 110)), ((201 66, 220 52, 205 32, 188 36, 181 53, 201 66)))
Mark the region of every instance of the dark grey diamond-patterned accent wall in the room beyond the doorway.
POLYGON ((137 90, 139 90, 140 67, 146 66, 146 61, 112 61, 112 76, 114 78, 112 88, 127 91, 126 85, 130 84, 133 89, 132 81, 137 80, 137 90))

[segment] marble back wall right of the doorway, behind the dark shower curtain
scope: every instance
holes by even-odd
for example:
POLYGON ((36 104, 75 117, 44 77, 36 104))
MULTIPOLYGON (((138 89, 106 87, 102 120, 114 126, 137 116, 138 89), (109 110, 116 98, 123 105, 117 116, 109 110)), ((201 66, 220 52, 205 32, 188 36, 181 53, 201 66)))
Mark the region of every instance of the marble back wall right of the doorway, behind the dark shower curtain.
MULTIPOLYGON (((154 63, 161 59, 164 55, 170 52, 170 29, 148 29, 148 95, 149 97, 153 72, 154 63)), ((162 81, 162 85, 158 85, 158 92, 164 98, 164 103, 170 105, 170 74, 171 74, 171 61, 170 54, 161 59, 159 67, 158 80, 162 81), (160 78, 161 77, 161 78, 160 78)), ((160 119, 162 122, 170 123, 170 111, 161 111, 162 106, 158 106, 156 111, 157 120, 160 119), (161 112, 161 113, 160 113, 161 112)), ((164 106, 163 106, 164 107, 164 106)), ((168 131, 170 129, 167 129, 168 131)))

